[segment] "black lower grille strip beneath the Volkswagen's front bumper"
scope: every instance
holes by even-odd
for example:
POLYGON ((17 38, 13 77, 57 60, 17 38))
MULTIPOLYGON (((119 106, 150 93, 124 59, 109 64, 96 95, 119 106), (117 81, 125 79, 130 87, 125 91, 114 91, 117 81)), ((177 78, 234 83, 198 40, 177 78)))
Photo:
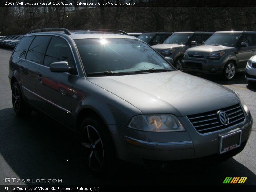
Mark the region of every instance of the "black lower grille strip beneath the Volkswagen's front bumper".
POLYGON ((204 168, 208 167, 212 164, 220 163, 222 161, 225 161, 236 154, 240 153, 245 145, 247 143, 247 140, 241 143, 241 146, 235 149, 232 149, 226 153, 223 154, 213 154, 209 156, 204 156, 200 158, 194 158, 194 159, 184 159, 184 160, 176 160, 176 161, 156 161, 156 160, 149 160, 149 159, 143 159, 144 165, 149 170, 162 170, 162 171, 174 171, 174 172, 180 172, 180 171, 188 171, 190 169, 198 169, 198 168, 204 168))

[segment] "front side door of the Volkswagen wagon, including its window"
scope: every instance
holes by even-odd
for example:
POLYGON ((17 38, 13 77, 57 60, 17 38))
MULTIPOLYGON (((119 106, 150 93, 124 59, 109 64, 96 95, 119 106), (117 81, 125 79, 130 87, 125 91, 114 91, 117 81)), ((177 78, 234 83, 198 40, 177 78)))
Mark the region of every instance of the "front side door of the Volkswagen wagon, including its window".
POLYGON ((44 54, 42 65, 39 66, 40 81, 38 92, 41 96, 41 108, 54 119, 67 126, 72 126, 71 112, 75 95, 73 84, 77 80, 77 70, 72 73, 51 72, 53 62, 67 61, 70 66, 76 66, 68 42, 58 36, 52 36, 44 54))

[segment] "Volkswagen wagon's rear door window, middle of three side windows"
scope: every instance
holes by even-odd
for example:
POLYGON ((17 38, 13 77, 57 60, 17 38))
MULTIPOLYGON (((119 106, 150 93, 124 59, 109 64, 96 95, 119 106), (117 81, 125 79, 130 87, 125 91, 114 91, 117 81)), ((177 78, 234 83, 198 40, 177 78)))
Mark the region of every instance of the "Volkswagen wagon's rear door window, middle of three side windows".
POLYGON ((26 59, 40 64, 49 39, 49 36, 36 36, 29 46, 26 59))

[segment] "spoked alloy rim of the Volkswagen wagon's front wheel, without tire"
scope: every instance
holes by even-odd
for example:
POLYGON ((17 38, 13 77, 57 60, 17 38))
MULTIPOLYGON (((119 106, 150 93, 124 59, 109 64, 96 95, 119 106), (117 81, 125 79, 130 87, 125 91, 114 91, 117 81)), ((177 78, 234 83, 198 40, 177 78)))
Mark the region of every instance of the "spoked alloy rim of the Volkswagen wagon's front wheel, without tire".
POLYGON ((104 148, 99 133, 93 126, 87 125, 81 139, 86 163, 91 169, 99 170, 104 161, 104 148))

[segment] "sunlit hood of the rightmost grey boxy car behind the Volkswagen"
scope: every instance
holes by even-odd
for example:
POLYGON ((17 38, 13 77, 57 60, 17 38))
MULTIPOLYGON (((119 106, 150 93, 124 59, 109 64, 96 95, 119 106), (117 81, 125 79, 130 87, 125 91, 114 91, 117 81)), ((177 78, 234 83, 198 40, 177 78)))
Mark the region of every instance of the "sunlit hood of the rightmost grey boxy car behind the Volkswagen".
POLYGON ((209 55, 211 52, 215 51, 224 51, 227 49, 235 49, 234 47, 225 47, 225 46, 214 46, 214 45, 200 45, 196 47, 191 47, 187 50, 187 54, 196 54, 196 55, 209 55))

